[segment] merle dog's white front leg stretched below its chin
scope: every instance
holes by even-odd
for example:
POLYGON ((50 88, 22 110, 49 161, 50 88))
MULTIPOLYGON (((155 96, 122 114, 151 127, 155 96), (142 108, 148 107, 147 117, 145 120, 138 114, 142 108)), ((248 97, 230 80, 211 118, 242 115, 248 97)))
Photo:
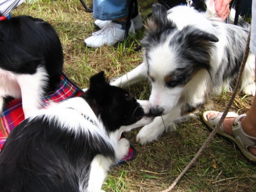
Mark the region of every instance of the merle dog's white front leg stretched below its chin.
POLYGON ((157 140, 169 128, 175 128, 174 121, 181 119, 180 107, 174 108, 170 113, 155 117, 152 123, 145 125, 137 134, 136 141, 141 145, 157 140))

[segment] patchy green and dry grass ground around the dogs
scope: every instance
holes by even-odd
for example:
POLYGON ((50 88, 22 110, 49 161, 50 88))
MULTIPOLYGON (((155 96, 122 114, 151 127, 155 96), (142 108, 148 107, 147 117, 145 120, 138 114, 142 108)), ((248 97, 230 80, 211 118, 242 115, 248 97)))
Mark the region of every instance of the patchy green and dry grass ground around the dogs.
MULTIPOLYGON (((154 0, 138 1, 144 20, 154 0)), ((83 40, 95 31, 91 13, 85 12, 79 0, 38 0, 22 4, 12 16, 30 15, 52 24, 62 42, 65 74, 81 88, 89 86, 89 78, 104 70, 109 78, 121 76, 135 68, 143 59, 142 52, 133 51, 143 38, 144 30, 125 44, 87 49, 83 40)), ((132 86, 129 91, 139 99, 148 99, 147 83, 132 86)), ((214 98, 214 110, 223 111, 230 92, 214 98)), ((253 97, 239 94, 232 111, 246 113, 253 97)), ((204 109, 202 109, 203 111, 204 109)), ((111 168, 104 182, 105 191, 155 192, 165 190, 194 157, 204 143, 209 129, 201 119, 202 111, 177 124, 177 132, 164 133, 159 140, 141 146, 135 142, 139 129, 125 136, 137 150, 134 160, 111 168)), ((196 164, 181 178, 177 192, 255 192, 256 167, 249 164, 232 142, 215 136, 196 164)))

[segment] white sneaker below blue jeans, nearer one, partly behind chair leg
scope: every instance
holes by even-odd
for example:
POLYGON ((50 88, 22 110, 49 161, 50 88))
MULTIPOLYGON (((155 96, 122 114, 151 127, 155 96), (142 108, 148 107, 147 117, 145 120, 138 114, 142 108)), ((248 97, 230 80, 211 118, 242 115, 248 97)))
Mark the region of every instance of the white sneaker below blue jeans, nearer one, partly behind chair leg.
MULTIPOLYGON (((129 28, 129 34, 131 36, 135 35, 134 25, 131 21, 131 26, 129 28)), ((94 32, 89 38, 84 41, 85 46, 89 48, 102 47, 104 45, 114 45, 117 42, 123 42, 125 38, 125 30, 121 29, 121 24, 116 24, 114 22, 109 22, 108 25, 103 27, 101 30, 94 32), (120 27, 119 27, 120 26, 120 27)))

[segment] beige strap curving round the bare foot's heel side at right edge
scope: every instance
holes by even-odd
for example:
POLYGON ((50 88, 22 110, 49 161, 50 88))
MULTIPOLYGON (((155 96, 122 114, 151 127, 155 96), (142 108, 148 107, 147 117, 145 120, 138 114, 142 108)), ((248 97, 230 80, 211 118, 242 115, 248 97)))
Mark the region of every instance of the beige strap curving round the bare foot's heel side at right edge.
POLYGON ((245 114, 239 115, 238 117, 236 117, 236 119, 234 120, 234 123, 232 125, 232 130, 234 133, 234 137, 236 138, 236 140, 238 142, 240 142, 240 144, 242 146, 244 146, 244 148, 248 150, 248 147, 254 147, 256 148, 256 137, 252 137, 248 134, 246 134, 242 128, 242 123, 241 123, 241 119, 243 117, 245 117, 245 114))

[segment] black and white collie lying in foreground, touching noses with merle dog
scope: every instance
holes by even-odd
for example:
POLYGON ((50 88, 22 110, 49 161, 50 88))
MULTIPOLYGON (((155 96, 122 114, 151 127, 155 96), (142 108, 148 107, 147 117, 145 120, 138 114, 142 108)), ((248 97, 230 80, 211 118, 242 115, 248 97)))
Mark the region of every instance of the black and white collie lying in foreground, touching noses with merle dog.
POLYGON ((121 133, 152 122, 149 102, 110 86, 100 72, 81 96, 22 121, 0 152, 0 191, 99 192, 129 151, 121 133))

